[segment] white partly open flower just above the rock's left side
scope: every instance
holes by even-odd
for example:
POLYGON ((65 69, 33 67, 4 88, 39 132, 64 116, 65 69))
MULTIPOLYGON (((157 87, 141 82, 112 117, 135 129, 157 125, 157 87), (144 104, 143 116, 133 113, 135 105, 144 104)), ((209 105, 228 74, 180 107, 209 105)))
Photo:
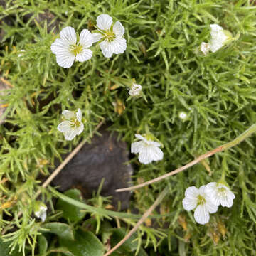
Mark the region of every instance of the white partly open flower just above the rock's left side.
POLYGON ((76 113, 63 110, 62 114, 65 121, 61 122, 57 129, 63 132, 65 139, 72 140, 75 135, 79 135, 84 129, 84 125, 82 124, 82 112, 80 109, 78 109, 76 113))

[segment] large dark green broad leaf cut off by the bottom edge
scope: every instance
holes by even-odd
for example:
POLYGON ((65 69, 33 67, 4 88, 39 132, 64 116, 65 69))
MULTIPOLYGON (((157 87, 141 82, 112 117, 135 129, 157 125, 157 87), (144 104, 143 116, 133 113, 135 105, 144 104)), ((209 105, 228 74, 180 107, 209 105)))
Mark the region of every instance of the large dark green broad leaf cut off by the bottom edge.
POLYGON ((75 241, 60 239, 60 245, 68 248, 75 256, 102 256, 105 252, 96 235, 83 230, 76 231, 75 241))

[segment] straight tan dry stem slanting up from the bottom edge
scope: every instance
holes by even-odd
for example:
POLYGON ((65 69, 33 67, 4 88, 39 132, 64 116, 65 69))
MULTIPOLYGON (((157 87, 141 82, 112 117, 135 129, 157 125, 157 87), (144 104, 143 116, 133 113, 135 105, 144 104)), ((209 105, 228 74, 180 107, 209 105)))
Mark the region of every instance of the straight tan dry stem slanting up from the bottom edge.
POLYGON ((154 203, 150 206, 150 208, 146 210, 146 212, 144 213, 144 215, 142 215, 142 218, 137 222, 137 224, 134 225, 134 228, 132 228, 132 230, 130 230, 129 233, 125 235, 125 237, 120 242, 117 243, 117 245, 115 245, 111 250, 109 250, 103 256, 110 255, 112 252, 117 250, 117 248, 119 248, 126 240, 128 240, 131 237, 131 235, 139 228, 139 226, 142 225, 142 223, 144 223, 144 220, 146 220, 146 218, 149 217, 150 213, 154 210, 154 208, 156 208, 156 206, 158 206, 159 203, 161 203, 161 201, 164 199, 164 197, 168 193, 168 190, 169 188, 166 186, 166 188, 164 188, 164 190, 161 191, 160 195, 156 198, 156 201, 154 201, 154 203))

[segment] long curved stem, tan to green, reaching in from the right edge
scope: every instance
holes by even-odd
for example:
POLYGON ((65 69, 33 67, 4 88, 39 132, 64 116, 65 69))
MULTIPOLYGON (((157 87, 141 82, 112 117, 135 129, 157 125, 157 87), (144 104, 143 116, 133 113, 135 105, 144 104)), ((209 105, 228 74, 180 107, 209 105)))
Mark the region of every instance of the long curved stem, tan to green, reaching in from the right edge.
POLYGON ((223 151, 225 149, 230 149, 231 147, 239 144, 240 142, 242 142, 244 139, 246 139, 247 137, 249 137, 252 133, 256 132, 256 124, 252 124, 252 126, 247 129, 245 132, 243 132, 242 134, 240 134, 237 138, 235 138, 232 142, 228 142, 226 144, 223 144, 222 146, 218 146, 218 148, 216 149, 213 149, 212 151, 208 151, 206 152, 205 154, 202 154, 201 156, 198 156, 197 159, 191 161, 190 163, 184 165, 184 166, 181 166, 179 167, 178 169, 174 170, 174 171, 171 171, 169 172, 168 174, 164 174, 162 176, 159 176, 157 178, 153 178, 151 179, 150 181, 146 181, 144 183, 141 183, 139 185, 136 185, 136 186, 132 186, 132 187, 129 187, 129 188, 119 188, 117 189, 116 191, 117 192, 123 192, 123 191, 131 191, 133 189, 136 189, 136 188, 142 188, 146 185, 149 185, 149 184, 152 184, 152 183, 155 183, 155 182, 158 182, 158 181, 161 181, 163 180, 164 178, 169 178, 170 176, 173 176, 174 174, 178 174, 179 172, 181 171, 184 171, 186 169, 188 169, 189 167, 195 165, 195 164, 198 164, 200 161, 202 161, 203 159, 206 159, 210 156, 212 156, 213 154, 215 153, 218 153, 220 151, 223 151))

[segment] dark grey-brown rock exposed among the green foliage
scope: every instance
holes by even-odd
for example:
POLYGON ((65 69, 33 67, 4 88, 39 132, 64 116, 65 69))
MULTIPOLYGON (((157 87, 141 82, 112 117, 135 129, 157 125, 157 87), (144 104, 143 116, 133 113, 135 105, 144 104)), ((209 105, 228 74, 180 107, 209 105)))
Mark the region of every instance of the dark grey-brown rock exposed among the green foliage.
MULTIPOLYGON (((60 191, 78 188, 85 198, 97 191, 102 178, 102 196, 112 196, 112 205, 117 208, 121 203, 121 210, 129 207, 130 192, 117 193, 117 188, 130 185, 132 166, 125 164, 129 161, 127 144, 117 141, 117 134, 102 129, 102 137, 95 135, 91 144, 85 144, 78 154, 65 166, 53 180, 52 184, 59 186, 60 191)), ((65 159, 65 156, 63 157, 65 159)))

